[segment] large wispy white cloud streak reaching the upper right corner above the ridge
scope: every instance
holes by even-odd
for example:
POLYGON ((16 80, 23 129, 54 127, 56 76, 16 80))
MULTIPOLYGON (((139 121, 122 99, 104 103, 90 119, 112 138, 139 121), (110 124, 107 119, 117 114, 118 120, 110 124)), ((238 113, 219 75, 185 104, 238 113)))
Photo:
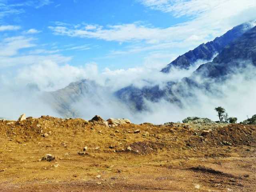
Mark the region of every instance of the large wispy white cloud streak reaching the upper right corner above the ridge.
MULTIPOLYGON (((255 18, 256 2, 252 0, 139 0, 146 7, 180 16, 192 16, 187 22, 166 28, 142 22, 100 26, 97 24, 58 24, 49 26, 56 35, 94 38, 105 41, 129 42, 126 50, 114 50, 110 55, 146 50, 184 47, 186 50, 213 40, 232 27, 255 18), (136 45, 137 44, 137 45, 136 45), (138 46, 138 44, 140 44, 138 46)), ((180 54, 182 54, 180 52, 180 54)))

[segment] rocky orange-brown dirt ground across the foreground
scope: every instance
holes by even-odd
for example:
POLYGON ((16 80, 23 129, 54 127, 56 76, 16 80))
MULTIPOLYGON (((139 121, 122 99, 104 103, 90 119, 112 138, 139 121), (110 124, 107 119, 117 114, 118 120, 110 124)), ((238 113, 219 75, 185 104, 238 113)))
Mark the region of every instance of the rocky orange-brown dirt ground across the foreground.
POLYGON ((110 128, 49 116, 0 121, 0 191, 256 192, 256 126, 208 129, 110 128), (55 160, 41 160, 46 154, 55 160))

